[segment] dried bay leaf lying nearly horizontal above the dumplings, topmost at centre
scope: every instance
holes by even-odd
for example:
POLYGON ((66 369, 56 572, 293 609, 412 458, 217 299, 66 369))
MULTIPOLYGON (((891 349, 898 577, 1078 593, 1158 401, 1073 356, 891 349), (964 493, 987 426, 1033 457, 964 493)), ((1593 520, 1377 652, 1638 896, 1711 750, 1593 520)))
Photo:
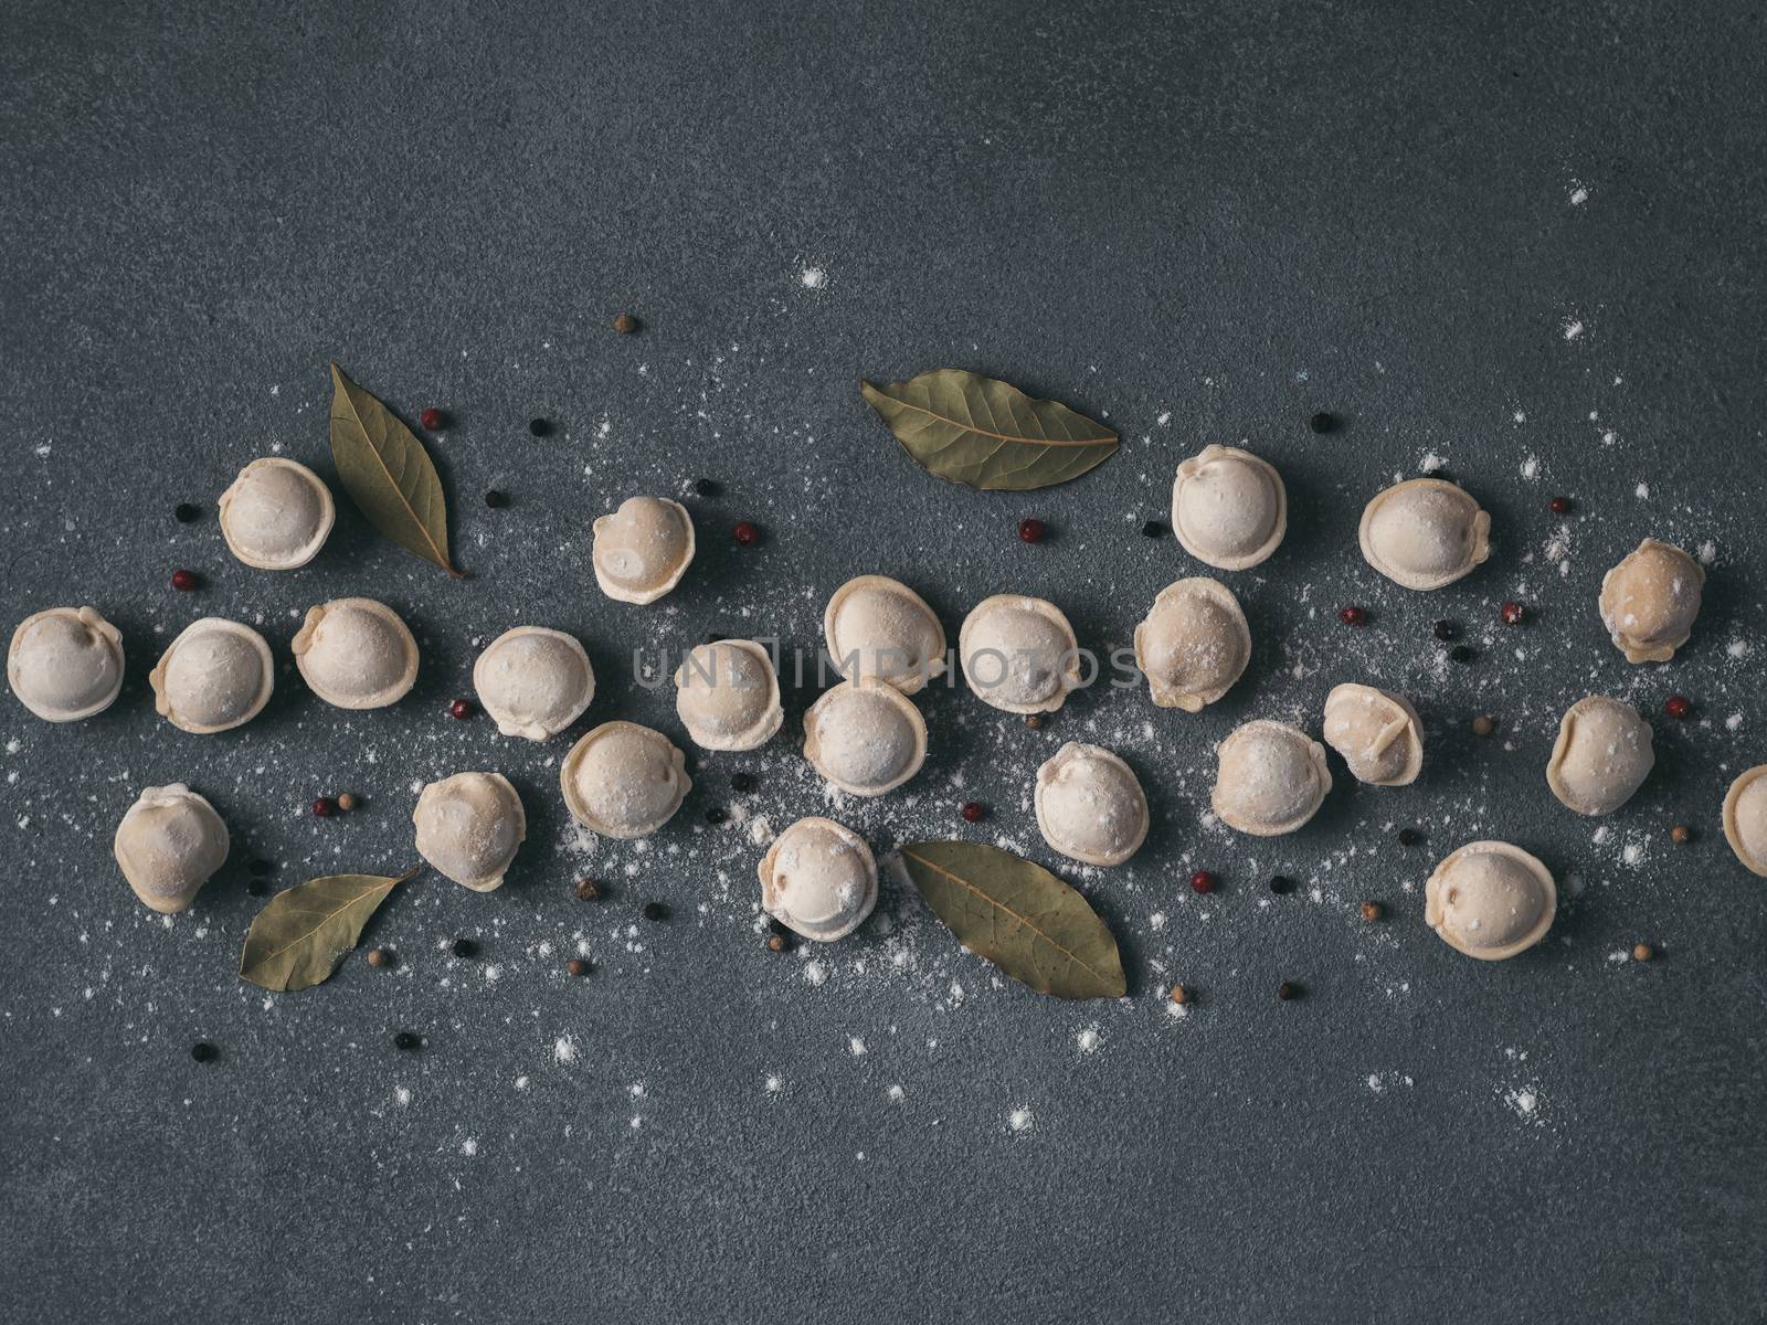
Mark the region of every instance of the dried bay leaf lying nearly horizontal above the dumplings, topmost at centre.
POLYGON ((1083 413, 961 367, 861 382, 859 394, 921 468, 970 488, 1050 488, 1117 450, 1117 435, 1083 413))

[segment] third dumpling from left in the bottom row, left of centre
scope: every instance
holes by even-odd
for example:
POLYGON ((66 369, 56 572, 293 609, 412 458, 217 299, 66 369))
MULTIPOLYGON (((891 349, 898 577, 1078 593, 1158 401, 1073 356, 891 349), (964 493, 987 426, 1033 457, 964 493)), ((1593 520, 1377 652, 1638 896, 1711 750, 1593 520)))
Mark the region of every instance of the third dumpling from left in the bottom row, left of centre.
POLYGON ((661 731, 603 723, 564 758, 558 786, 571 818, 604 837, 648 837, 693 790, 687 756, 661 731))

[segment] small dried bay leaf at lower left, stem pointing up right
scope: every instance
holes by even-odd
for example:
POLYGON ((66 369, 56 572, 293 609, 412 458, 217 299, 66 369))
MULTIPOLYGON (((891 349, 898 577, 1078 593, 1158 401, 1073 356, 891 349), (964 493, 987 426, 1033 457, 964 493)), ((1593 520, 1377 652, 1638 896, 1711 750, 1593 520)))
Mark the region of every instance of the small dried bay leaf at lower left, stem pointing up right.
POLYGON ((327 874, 270 897, 239 954, 239 977, 286 993, 329 979, 387 894, 417 874, 327 874))

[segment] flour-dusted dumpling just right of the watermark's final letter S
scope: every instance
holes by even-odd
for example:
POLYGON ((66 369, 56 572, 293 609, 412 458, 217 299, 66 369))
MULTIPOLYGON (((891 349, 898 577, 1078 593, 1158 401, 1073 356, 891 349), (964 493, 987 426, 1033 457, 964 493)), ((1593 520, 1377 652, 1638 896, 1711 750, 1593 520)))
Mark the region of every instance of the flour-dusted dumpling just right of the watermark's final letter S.
POLYGON ((1251 659, 1251 627, 1233 590, 1194 576, 1159 590, 1134 627, 1134 664, 1161 708, 1202 712, 1226 694, 1251 659))

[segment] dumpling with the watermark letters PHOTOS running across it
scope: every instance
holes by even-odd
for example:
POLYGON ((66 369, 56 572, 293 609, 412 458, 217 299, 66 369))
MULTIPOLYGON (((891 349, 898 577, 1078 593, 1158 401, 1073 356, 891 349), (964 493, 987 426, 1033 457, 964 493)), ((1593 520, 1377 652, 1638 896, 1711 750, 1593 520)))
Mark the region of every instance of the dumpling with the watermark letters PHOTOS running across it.
POLYGON ((963 680, 1009 714, 1051 714, 1080 685, 1080 640, 1053 602, 997 594, 958 631, 963 680))

